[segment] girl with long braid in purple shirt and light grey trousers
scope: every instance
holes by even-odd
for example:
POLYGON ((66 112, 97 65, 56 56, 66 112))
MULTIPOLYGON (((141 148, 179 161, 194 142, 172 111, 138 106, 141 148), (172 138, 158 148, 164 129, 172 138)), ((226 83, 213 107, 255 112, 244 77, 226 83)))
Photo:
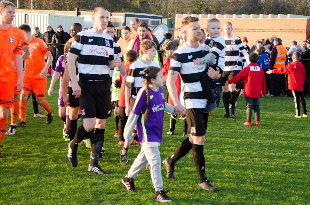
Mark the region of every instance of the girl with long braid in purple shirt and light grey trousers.
POLYGON ((146 67, 141 77, 144 80, 145 86, 139 90, 135 105, 125 126, 125 145, 120 153, 121 161, 127 162, 129 165, 128 149, 132 141, 131 133, 135 124, 139 142, 141 142, 141 152, 127 175, 122 179, 122 183, 128 191, 136 191, 134 185, 135 177, 149 163, 151 178, 156 191, 155 200, 170 202, 171 199, 163 189, 158 146, 162 142, 164 111, 174 113, 174 107, 165 102, 165 94, 161 87, 165 79, 160 68, 154 66, 146 67))

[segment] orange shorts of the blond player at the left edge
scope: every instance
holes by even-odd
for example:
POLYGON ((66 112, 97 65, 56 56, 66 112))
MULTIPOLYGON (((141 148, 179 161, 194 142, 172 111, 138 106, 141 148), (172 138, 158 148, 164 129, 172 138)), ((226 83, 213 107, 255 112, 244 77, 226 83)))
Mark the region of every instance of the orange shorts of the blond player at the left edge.
POLYGON ((15 83, 0 82, 0 106, 13 107, 15 83))

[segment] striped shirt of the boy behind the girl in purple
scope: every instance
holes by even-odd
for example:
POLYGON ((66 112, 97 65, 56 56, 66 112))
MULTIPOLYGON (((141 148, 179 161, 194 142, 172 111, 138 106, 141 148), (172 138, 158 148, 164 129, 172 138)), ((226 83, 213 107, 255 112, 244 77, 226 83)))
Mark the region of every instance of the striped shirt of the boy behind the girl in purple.
POLYGON ((130 93, 131 98, 135 99, 139 89, 145 86, 143 78, 141 78, 141 75, 143 73, 144 68, 148 66, 155 66, 160 69, 160 66, 152 60, 150 64, 146 64, 141 59, 139 59, 130 65, 126 80, 126 87, 131 88, 130 93))

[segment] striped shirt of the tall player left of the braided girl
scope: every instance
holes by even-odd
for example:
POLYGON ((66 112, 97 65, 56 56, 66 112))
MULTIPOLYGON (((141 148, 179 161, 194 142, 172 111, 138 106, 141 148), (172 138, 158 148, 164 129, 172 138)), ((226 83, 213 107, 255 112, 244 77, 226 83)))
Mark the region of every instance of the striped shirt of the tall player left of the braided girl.
POLYGON ((108 62, 114 60, 113 39, 108 34, 98 34, 88 29, 78 33, 69 51, 78 55, 80 79, 103 81, 110 79, 108 62))

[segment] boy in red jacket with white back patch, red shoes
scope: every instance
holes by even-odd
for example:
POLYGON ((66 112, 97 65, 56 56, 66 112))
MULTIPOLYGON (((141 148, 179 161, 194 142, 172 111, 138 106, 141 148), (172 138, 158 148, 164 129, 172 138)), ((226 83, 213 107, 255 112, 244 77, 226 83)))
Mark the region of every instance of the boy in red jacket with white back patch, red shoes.
MULTIPOLYGON (((226 84, 236 84, 244 80, 244 96, 246 96, 246 122, 244 125, 252 126, 252 109, 255 112, 255 123, 260 125, 259 116, 259 97, 266 95, 266 84, 263 69, 257 64, 259 56, 256 53, 250 55, 250 64, 243 68, 235 77, 226 82, 226 84)), ((226 85, 225 84, 225 85, 226 85)))

